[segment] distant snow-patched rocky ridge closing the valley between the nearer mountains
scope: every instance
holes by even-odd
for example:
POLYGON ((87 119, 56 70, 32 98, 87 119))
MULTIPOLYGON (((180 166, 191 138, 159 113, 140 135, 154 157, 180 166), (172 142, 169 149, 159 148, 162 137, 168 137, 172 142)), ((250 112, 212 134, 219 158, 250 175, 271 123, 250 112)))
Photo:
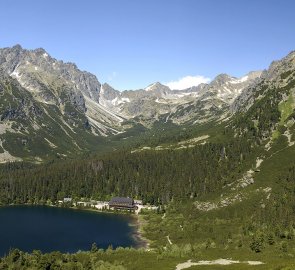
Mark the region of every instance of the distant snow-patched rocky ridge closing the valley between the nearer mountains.
POLYGON ((204 122, 212 118, 213 111, 218 115, 228 109, 243 89, 260 75, 261 72, 252 72, 238 79, 221 74, 209 84, 185 90, 171 90, 156 82, 145 89, 119 92, 104 84, 100 103, 124 118, 140 119, 147 126, 163 117, 177 124, 192 120, 204 122))

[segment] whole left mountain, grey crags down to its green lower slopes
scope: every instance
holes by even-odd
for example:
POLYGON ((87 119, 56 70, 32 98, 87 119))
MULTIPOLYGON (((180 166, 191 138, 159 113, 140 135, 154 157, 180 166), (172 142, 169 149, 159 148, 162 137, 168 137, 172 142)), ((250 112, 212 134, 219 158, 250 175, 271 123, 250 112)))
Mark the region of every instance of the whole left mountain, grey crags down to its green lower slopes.
POLYGON ((96 77, 43 49, 0 49, 0 74, 2 162, 73 156, 122 130, 99 104, 96 77))

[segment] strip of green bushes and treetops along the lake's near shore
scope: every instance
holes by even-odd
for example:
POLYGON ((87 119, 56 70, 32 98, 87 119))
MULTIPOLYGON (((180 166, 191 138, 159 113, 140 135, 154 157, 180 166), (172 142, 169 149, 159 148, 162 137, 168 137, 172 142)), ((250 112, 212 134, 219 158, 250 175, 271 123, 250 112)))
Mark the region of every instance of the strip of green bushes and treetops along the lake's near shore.
MULTIPOLYGON (((89 247, 90 248, 90 247, 89 247)), ((90 251, 74 254, 53 251, 31 253, 12 249, 7 256, 0 258, 2 270, 138 270, 138 269, 174 269, 186 258, 196 256, 191 245, 168 246, 153 252, 144 249, 122 248, 99 249, 94 243, 90 251)))

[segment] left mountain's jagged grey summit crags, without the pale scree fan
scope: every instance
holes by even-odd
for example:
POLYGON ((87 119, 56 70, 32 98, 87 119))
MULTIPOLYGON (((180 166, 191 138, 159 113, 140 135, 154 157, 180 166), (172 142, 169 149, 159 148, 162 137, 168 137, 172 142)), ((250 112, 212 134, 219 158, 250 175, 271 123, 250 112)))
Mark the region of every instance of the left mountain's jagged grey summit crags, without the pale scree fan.
POLYGON ((85 111, 84 96, 99 101, 100 83, 93 74, 80 71, 73 63, 57 61, 42 48, 25 50, 16 45, 0 49, 0 68, 41 102, 56 103, 67 97, 85 111))

